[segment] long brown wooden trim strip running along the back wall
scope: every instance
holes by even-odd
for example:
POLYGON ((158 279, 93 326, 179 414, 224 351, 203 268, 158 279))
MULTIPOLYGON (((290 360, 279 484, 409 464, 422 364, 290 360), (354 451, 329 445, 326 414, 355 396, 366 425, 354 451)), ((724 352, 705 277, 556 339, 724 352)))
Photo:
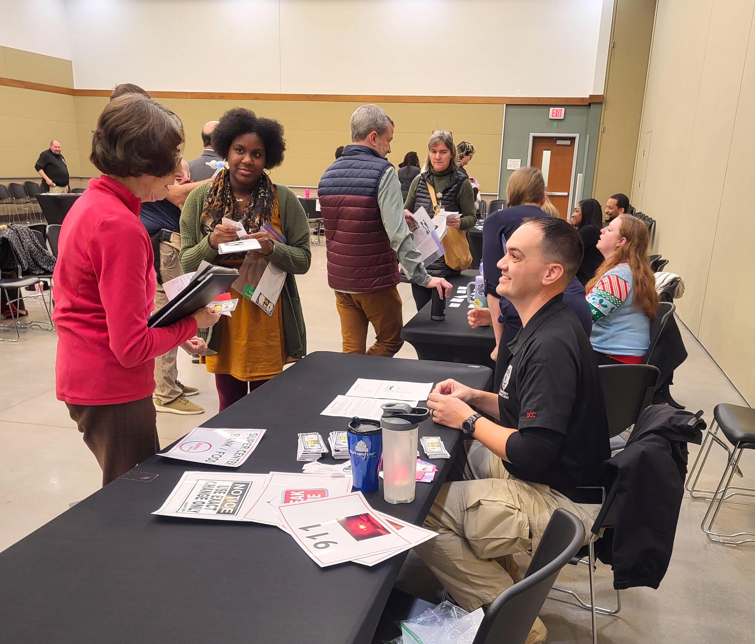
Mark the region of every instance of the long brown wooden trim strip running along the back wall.
MULTIPOLYGON (((107 89, 72 89, 0 77, 0 85, 68 96, 107 97, 107 89)), ((245 92, 150 91, 154 98, 200 98, 214 100, 312 100, 337 103, 464 103, 470 105, 589 105, 602 103, 602 94, 589 97, 526 97, 526 96, 370 96, 359 94, 249 94, 245 92)))

